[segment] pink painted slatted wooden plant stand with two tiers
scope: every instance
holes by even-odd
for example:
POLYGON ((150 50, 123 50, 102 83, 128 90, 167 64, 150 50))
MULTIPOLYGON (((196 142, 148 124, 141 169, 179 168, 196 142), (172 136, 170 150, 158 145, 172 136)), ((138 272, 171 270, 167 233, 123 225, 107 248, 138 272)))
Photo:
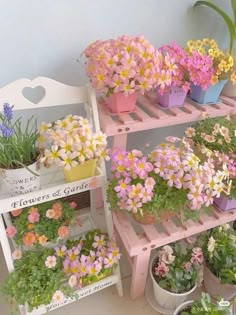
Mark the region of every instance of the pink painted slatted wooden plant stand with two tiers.
MULTIPOLYGON (((113 147, 126 148, 127 135, 132 132, 161 128, 170 125, 190 123, 209 117, 236 114, 236 100, 221 96, 217 104, 202 106, 186 98, 182 107, 164 109, 156 104, 155 92, 140 95, 136 103, 136 110, 125 115, 109 113, 104 100, 98 100, 100 125, 103 132, 112 136, 113 147), (204 115, 203 115, 204 114, 204 115)), ((221 213, 213 209, 211 214, 204 214, 198 222, 187 221, 185 226, 176 224, 172 219, 156 225, 141 225, 143 234, 137 233, 132 220, 128 220, 125 213, 114 212, 115 230, 121 239, 128 260, 132 266, 131 297, 137 298, 144 293, 148 273, 151 250, 168 243, 190 237, 215 226, 236 219, 235 212, 221 213)))

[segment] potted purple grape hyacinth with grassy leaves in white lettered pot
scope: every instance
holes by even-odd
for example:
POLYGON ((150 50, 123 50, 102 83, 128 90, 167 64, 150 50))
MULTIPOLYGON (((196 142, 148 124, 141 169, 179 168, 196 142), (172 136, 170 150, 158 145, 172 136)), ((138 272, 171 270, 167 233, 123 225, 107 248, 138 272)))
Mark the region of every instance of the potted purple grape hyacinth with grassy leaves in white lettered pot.
POLYGON ((13 121, 13 106, 3 105, 0 113, 0 169, 11 196, 40 188, 37 122, 34 117, 22 127, 13 121))

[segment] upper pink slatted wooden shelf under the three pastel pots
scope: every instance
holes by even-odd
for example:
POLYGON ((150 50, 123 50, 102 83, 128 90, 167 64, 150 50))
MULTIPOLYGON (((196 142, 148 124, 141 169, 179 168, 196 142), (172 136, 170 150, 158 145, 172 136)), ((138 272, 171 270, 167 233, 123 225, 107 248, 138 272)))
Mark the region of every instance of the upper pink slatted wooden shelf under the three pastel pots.
POLYGON ((187 98, 182 107, 165 109, 156 104, 155 93, 150 92, 138 97, 133 113, 118 115, 108 112, 104 98, 100 98, 98 103, 101 129, 108 136, 194 122, 201 120, 203 113, 210 117, 236 113, 236 100, 225 96, 211 105, 199 105, 187 98))

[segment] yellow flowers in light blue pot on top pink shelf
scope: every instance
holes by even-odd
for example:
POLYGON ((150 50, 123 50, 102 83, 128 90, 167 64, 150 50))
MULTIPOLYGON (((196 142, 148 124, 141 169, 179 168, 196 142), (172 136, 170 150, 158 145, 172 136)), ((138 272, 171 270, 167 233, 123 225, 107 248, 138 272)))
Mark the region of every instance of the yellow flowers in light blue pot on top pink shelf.
MULTIPOLYGON (((211 77, 208 88, 203 90, 198 85, 198 82, 193 79, 190 97, 200 104, 217 102, 221 90, 227 80, 230 78, 233 82, 236 82, 236 76, 233 72, 233 57, 228 52, 220 50, 215 40, 210 40, 208 38, 197 41, 188 41, 187 51, 189 55, 193 55, 198 52, 201 55, 210 57, 212 60, 212 69, 209 72, 211 77)), ((198 63, 198 67, 204 67, 205 69, 206 64, 198 63)), ((205 69, 205 71, 208 70, 205 69)))

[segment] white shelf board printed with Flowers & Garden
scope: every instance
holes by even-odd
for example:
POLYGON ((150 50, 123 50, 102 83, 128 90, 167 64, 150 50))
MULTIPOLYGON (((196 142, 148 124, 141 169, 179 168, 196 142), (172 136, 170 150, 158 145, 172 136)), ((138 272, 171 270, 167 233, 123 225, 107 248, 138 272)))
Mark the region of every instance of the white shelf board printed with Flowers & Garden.
POLYGON ((41 189, 27 194, 11 197, 6 192, 4 183, 1 183, 0 214, 14 209, 25 208, 45 201, 55 200, 80 192, 88 191, 105 185, 105 176, 100 168, 97 168, 96 175, 75 182, 65 182, 61 170, 50 168, 41 170, 41 189))

